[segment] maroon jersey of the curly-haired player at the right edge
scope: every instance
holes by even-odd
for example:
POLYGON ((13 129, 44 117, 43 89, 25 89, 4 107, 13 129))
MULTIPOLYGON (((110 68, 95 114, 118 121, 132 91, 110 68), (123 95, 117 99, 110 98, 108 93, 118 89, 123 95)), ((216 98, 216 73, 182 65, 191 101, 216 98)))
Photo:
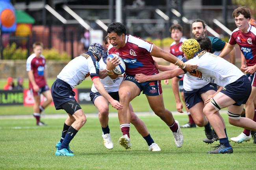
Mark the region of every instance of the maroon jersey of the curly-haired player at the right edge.
POLYGON ((238 28, 232 32, 229 44, 238 44, 245 56, 247 66, 256 64, 256 28, 249 24, 248 33, 242 33, 238 28))

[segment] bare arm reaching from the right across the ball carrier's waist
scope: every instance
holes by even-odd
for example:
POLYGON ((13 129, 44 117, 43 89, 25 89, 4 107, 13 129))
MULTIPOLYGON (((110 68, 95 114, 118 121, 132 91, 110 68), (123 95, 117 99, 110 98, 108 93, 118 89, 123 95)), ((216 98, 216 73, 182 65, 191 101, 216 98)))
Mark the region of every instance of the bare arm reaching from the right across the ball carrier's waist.
POLYGON ((142 73, 136 74, 135 79, 137 82, 146 82, 146 81, 154 81, 154 80, 165 80, 172 79, 178 75, 184 74, 184 70, 181 68, 177 68, 171 71, 163 71, 154 75, 144 75, 142 73))

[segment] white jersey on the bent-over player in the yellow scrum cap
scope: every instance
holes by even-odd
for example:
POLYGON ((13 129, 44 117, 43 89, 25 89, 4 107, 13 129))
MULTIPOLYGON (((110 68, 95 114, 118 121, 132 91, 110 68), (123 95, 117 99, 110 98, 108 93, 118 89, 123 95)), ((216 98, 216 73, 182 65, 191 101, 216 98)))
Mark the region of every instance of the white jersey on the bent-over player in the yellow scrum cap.
MULTIPOLYGON (((223 87, 244 75, 234 64, 206 51, 201 51, 194 58, 188 60, 187 63, 198 66, 197 70, 189 73, 197 80, 204 80, 223 87)), ((193 86, 196 86, 196 84, 193 84, 193 86)))

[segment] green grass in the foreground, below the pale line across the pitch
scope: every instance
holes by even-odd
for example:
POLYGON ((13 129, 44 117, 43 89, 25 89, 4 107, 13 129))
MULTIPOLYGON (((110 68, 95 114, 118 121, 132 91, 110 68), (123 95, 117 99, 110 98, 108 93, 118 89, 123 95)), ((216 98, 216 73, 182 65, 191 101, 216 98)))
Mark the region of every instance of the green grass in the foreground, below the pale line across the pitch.
MULTIPOLYGON (((223 115, 227 120, 226 114, 223 115)), ((175 115, 180 124, 186 115, 175 115)), ((55 144, 59 141, 64 118, 44 119, 48 126, 35 126, 34 119, 0 119, 1 170, 255 170, 255 144, 231 143, 233 154, 206 154, 210 146, 204 144, 203 128, 182 129, 184 144, 177 148, 173 134, 159 117, 140 116, 145 122, 161 152, 150 152, 147 143, 131 127, 132 149, 118 144, 121 136, 117 117, 110 117, 109 127, 114 148, 103 145, 97 117, 88 117, 87 123, 74 137, 70 148, 74 157, 56 157, 55 144)), ((241 133, 241 128, 227 125, 229 137, 241 133)))

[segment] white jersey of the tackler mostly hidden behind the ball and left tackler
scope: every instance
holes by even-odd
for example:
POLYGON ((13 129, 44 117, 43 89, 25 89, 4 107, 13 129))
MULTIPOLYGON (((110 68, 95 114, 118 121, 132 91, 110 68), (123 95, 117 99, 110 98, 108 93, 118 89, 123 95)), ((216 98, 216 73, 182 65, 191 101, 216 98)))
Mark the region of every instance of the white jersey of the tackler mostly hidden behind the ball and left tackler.
MULTIPOLYGON (((100 64, 100 71, 106 69, 106 59, 108 57, 108 54, 105 53, 103 57, 100 59, 99 64, 100 64)), ((100 82, 103 84, 104 88, 106 91, 109 92, 116 92, 119 90, 119 86, 122 82, 123 77, 117 77, 116 79, 111 79, 109 76, 105 77, 104 79, 100 79, 100 82)), ((91 87, 91 91, 93 93, 98 92, 98 90, 95 88, 94 84, 91 87)))

